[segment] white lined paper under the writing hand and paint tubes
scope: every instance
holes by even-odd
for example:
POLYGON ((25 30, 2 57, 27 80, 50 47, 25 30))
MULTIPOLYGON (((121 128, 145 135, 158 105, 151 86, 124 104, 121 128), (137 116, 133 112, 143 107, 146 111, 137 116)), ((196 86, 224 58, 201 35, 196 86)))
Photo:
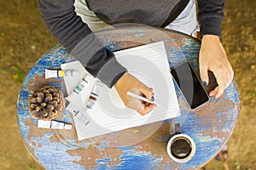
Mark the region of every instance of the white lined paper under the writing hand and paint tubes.
MULTIPOLYGON (((76 116, 73 116, 79 140, 180 116, 164 42, 120 50, 114 54, 129 73, 148 87, 154 88, 155 101, 160 105, 146 116, 141 116, 137 111, 125 107, 115 88, 109 89, 104 85, 93 111, 87 114, 85 105, 96 81, 93 78, 86 92, 72 102, 76 109, 86 114, 86 118, 89 119, 89 123, 84 126, 76 116)), ((68 94, 76 87, 81 77, 88 74, 79 61, 63 64, 61 69, 78 70, 80 74, 80 77, 64 77, 68 94)), ((66 109, 73 111, 70 107, 72 105, 68 105, 66 109)))

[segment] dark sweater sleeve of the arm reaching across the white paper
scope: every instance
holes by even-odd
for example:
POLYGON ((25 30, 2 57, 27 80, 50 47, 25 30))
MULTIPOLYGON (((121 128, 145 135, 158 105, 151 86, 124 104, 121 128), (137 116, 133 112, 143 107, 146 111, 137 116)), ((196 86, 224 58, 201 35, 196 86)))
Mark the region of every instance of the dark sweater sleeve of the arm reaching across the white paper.
POLYGON ((49 31, 84 68, 109 88, 126 69, 114 54, 103 48, 90 28, 76 14, 74 0, 38 0, 38 8, 49 31))

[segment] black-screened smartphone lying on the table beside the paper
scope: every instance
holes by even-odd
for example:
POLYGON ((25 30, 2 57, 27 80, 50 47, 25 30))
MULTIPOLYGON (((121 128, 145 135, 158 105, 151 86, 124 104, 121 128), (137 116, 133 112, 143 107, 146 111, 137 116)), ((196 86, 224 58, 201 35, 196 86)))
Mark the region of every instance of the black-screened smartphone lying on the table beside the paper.
POLYGON ((202 86, 189 61, 183 61, 181 64, 171 68, 171 73, 192 110, 209 100, 207 91, 202 86))

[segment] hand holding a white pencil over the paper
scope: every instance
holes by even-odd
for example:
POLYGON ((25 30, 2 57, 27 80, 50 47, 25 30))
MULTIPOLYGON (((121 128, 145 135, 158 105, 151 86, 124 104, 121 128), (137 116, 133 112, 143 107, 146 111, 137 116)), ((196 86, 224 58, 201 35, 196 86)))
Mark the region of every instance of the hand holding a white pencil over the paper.
POLYGON ((154 101, 153 88, 148 88, 143 82, 140 82, 136 77, 126 72, 119 81, 115 83, 120 98, 123 100, 126 107, 136 110, 141 115, 146 115, 154 109, 155 104, 145 103, 140 99, 135 99, 127 95, 128 92, 142 95, 143 97, 154 101))

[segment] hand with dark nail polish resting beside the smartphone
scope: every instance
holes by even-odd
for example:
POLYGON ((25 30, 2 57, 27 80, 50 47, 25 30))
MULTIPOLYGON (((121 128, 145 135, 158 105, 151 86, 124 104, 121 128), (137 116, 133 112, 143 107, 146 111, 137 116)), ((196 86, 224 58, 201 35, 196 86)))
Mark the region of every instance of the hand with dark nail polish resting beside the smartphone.
POLYGON ((205 35, 202 37, 201 50, 199 54, 199 67, 201 81, 208 84, 208 70, 212 71, 218 82, 218 87, 210 92, 217 99, 224 93, 233 80, 234 71, 218 36, 205 35))

